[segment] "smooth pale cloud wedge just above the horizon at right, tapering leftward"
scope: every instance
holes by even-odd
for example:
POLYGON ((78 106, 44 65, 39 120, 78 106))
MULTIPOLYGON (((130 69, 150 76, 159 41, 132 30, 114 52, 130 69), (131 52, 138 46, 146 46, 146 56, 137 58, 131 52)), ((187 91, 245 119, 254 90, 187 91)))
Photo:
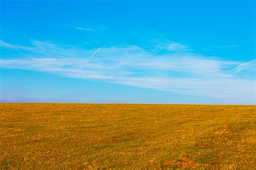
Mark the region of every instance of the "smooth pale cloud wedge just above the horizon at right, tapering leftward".
POLYGON ((130 86, 152 88, 183 95, 213 97, 221 103, 253 102, 255 100, 255 81, 223 78, 161 78, 130 77, 116 83, 130 86))

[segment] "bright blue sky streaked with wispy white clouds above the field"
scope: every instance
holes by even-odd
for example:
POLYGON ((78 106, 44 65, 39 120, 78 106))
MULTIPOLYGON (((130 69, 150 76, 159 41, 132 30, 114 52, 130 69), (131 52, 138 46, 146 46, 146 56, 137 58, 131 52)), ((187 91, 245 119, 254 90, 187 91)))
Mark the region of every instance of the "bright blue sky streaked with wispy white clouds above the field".
POLYGON ((0 102, 256 104, 254 0, 0 2, 0 102))

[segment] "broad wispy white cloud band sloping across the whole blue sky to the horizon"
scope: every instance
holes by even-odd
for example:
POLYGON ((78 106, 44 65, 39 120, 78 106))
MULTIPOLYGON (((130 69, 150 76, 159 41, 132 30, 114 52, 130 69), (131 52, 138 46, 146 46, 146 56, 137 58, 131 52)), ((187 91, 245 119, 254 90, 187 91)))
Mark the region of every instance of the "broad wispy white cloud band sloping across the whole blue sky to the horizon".
POLYGON ((34 40, 31 47, 16 46, 26 49, 30 57, 0 59, 0 67, 212 97, 224 103, 255 100, 255 79, 239 75, 254 69, 255 60, 209 58, 184 51, 190 48, 175 43, 171 46, 175 53, 158 54, 134 45, 83 49, 34 40))

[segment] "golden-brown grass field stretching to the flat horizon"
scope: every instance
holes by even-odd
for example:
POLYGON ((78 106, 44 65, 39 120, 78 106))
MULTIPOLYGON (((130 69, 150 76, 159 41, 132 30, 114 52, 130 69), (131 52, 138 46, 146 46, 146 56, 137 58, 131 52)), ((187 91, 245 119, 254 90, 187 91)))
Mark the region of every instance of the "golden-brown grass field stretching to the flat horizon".
POLYGON ((0 169, 255 169, 255 105, 0 104, 0 169))

